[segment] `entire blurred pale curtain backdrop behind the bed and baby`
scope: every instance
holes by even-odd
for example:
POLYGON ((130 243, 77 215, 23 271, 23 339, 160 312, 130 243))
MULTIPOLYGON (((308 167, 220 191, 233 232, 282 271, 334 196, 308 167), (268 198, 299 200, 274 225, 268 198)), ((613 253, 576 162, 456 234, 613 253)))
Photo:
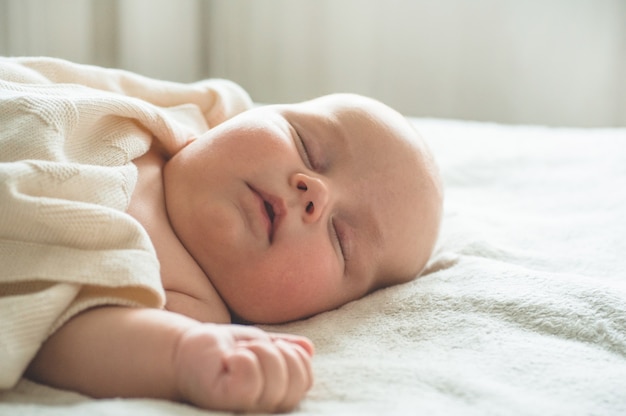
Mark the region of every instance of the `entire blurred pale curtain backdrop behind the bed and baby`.
POLYGON ((625 0, 0 0, 0 55, 229 78, 263 103, 626 126, 625 0))

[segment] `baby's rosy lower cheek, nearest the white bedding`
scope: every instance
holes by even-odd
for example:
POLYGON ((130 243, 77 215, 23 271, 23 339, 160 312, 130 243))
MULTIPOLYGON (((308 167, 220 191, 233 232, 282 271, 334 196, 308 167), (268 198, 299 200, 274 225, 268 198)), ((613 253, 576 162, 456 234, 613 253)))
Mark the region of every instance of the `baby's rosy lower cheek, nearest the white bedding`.
POLYGON ((240 281, 231 307, 254 323, 293 321, 332 309, 341 296, 341 274, 333 260, 310 251, 282 260, 266 258, 240 281))

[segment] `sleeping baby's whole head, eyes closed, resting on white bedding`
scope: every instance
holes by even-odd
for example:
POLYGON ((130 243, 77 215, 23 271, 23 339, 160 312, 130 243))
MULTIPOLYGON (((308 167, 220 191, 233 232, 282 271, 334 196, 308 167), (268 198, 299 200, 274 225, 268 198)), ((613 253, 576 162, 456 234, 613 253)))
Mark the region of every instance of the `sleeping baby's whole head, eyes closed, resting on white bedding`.
POLYGON ((349 94, 242 113, 177 153, 164 183, 179 239, 233 314, 254 323, 411 280, 442 210, 420 135, 349 94))

